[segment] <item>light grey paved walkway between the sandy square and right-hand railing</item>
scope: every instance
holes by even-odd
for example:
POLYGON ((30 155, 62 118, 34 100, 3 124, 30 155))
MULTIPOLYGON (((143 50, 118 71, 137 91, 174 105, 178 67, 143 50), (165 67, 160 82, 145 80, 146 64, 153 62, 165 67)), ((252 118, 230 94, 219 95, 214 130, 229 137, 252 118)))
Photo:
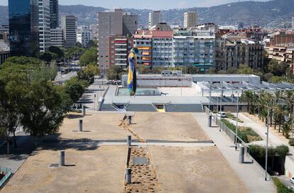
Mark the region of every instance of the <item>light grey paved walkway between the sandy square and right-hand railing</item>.
POLYGON ((276 192, 273 183, 264 180, 264 173, 258 170, 256 165, 251 163, 239 164, 239 151, 235 151, 234 148, 232 148, 232 145, 234 145, 233 142, 224 132, 219 132, 217 126, 212 128, 207 126, 207 115, 205 113, 195 113, 194 117, 207 135, 217 145, 222 155, 224 155, 224 158, 229 162, 229 165, 231 165, 241 180, 244 181, 244 184, 246 184, 250 192, 276 192))

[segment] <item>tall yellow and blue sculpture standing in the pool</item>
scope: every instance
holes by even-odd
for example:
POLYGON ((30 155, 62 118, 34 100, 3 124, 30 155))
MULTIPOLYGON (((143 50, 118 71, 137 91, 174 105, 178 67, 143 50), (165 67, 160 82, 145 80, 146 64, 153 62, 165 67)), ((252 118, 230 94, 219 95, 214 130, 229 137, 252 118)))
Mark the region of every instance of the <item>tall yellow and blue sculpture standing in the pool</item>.
POLYGON ((136 54, 138 54, 138 48, 131 49, 131 53, 129 54, 129 75, 128 75, 128 89, 130 96, 134 96, 136 94, 137 87, 137 77, 136 77, 136 54))

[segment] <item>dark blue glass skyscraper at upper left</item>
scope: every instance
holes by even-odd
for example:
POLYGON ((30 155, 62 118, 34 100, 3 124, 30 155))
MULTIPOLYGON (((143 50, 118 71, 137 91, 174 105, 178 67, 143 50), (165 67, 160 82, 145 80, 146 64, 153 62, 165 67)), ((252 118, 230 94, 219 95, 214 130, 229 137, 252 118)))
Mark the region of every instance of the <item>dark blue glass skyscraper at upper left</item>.
POLYGON ((33 56, 39 51, 38 0, 9 0, 11 56, 33 56))

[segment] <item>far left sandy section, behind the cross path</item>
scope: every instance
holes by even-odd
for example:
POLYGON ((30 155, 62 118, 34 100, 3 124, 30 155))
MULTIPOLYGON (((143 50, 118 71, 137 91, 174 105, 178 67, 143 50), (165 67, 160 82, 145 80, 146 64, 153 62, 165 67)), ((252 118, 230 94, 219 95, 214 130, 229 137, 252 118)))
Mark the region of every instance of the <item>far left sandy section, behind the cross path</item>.
POLYGON ((127 131, 119 127, 124 114, 90 114, 81 117, 72 115, 70 118, 65 118, 65 121, 60 128, 60 138, 69 139, 95 139, 95 140, 116 140, 124 139, 129 135, 127 131), (78 131, 79 121, 83 120, 83 133, 73 132, 78 131))

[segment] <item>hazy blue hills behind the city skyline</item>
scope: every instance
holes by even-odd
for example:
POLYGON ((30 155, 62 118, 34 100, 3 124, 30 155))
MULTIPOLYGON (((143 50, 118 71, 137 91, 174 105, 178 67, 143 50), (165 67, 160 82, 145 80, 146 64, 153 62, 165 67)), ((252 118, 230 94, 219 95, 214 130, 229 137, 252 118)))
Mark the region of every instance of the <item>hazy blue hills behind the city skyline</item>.
MULTIPOLYGON (((104 11, 102 7, 93 6, 60 6, 60 15, 74 14, 78 24, 96 23, 97 12, 104 11)), ((148 25, 148 9, 125 9, 139 15, 139 24, 148 25)), ((234 25, 243 22, 245 26, 256 24, 263 27, 281 27, 290 23, 294 16, 294 0, 273 0, 266 2, 242 1, 209 8, 169 9, 163 10, 163 21, 170 25, 183 24, 185 11, 197 11, 199 23, 214 22, 217 24, 234 25)), ((0 6, 0 23, 8 23, 7 6, 0 6)))

